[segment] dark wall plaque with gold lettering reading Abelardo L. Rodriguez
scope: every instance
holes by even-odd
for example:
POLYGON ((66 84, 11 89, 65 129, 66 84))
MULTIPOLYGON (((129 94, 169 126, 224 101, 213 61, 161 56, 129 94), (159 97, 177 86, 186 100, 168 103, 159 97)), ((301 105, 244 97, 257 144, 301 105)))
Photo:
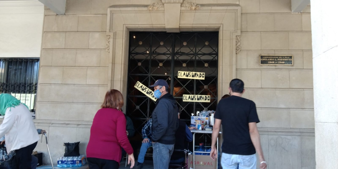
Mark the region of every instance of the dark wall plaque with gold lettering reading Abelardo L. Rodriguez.
POLYGON ((293 65, 293 56, 260 55, 260 65, 293 65))

